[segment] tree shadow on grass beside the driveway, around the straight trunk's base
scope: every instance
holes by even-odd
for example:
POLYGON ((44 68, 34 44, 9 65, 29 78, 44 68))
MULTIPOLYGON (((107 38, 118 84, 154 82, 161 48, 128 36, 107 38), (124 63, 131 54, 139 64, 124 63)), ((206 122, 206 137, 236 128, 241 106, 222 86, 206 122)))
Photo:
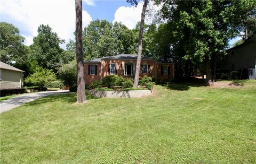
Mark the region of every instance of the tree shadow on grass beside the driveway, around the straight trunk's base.
MULTIPOLYGON (((34 105, 40 105, 43 103, 56 102, 56 101, 61 103, 75 103, 77 100, 76 96, 77 96, 76 92, 54 94, 54 95, 37 99, 35 101, 28 102, 25 104, 25 106, 34 106, 34 105)), ((98 99, 98 98, 93 97, 91 96, 91 94, 86 92, 86 100, 91 100, 91 99, 98 99)))

